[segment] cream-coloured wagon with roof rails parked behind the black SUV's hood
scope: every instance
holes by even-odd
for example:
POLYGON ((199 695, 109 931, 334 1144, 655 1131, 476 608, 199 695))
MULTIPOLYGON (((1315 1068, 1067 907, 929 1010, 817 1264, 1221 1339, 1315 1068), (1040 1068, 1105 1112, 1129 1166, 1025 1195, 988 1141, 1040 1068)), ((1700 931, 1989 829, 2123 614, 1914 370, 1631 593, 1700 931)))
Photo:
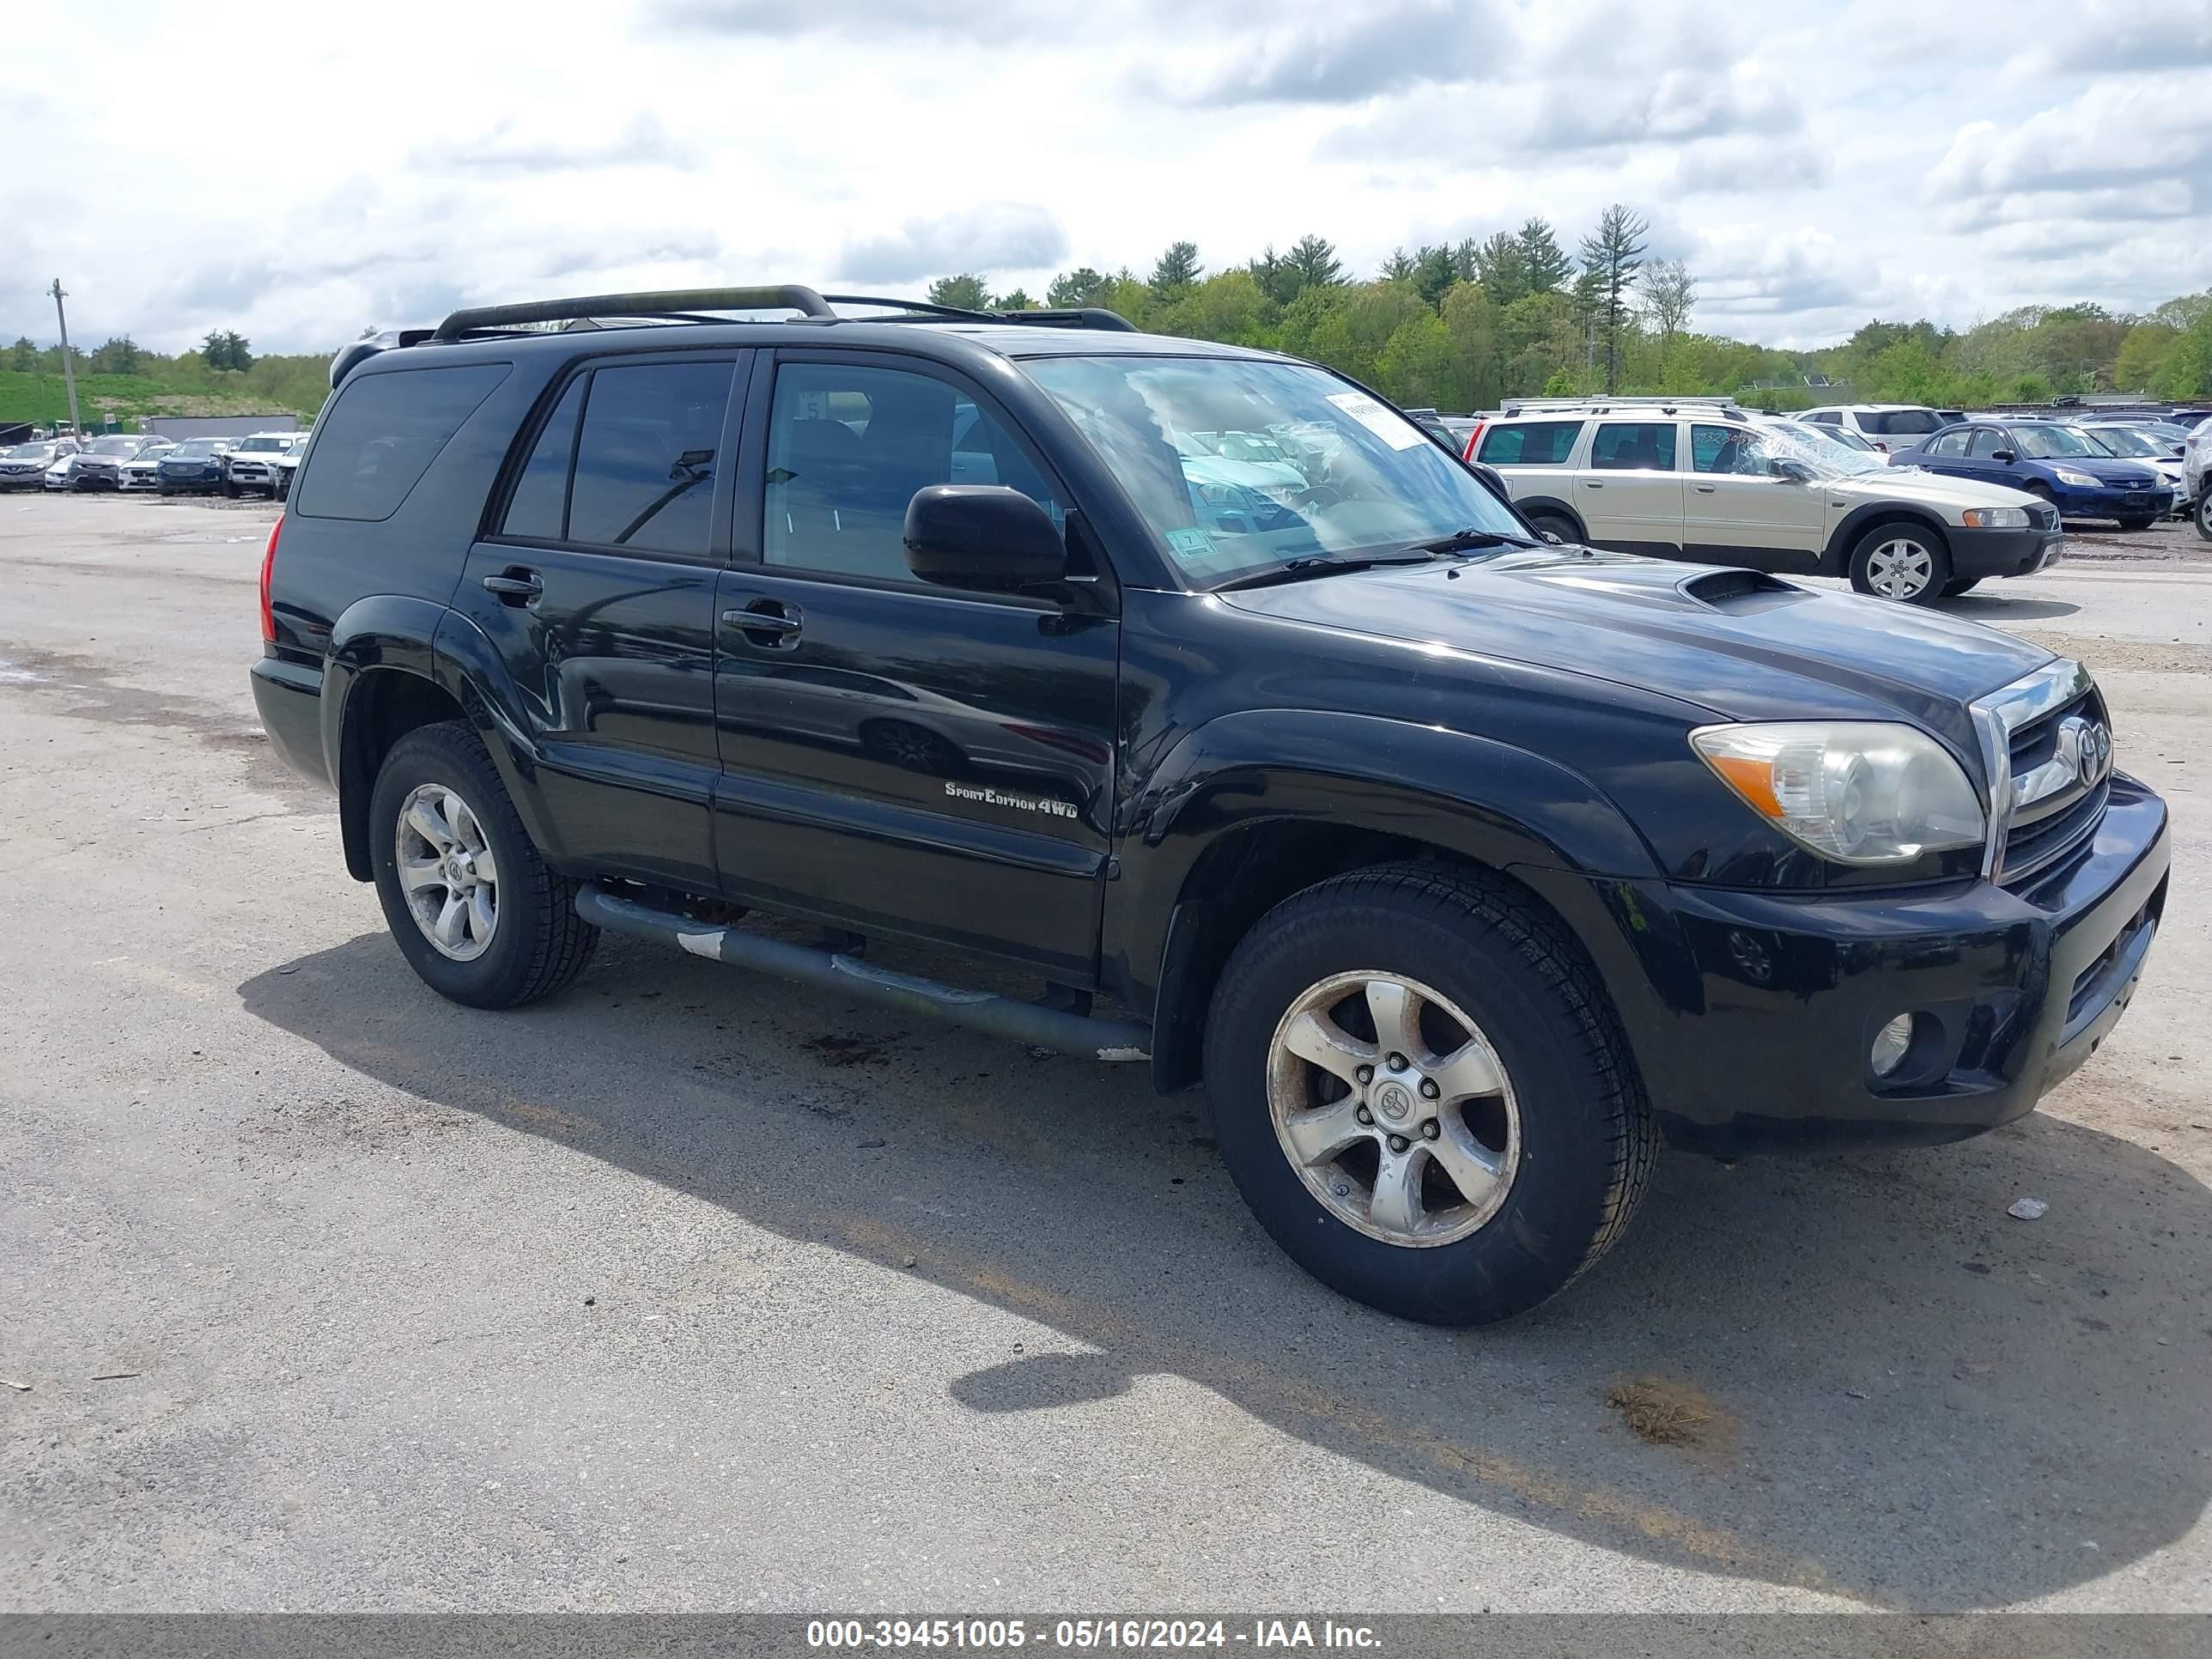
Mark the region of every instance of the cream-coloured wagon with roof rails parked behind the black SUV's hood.
POLYGON ((2057 511, 2000 484, 1863 462, 1730 403, 1526 398, 1471 460, 1562 542, 1785 575, 1933 604, 2059 557, 2057 511))

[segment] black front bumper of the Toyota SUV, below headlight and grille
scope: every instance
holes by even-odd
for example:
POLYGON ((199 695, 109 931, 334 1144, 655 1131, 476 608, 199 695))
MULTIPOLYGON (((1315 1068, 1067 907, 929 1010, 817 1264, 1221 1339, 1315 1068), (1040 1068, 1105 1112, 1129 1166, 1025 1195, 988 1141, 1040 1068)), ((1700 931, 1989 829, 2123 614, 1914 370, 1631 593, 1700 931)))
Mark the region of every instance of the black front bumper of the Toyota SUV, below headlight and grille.
MULTIPOLYGON (((1874 898, 1537 880, 1613 989, 1670 1141, 1739 1155, 1955 1141, 2035 1108, 2119 1022, 2166 909, 2166 803, 2115 772, 2104 823, 2017 891, 1874 898), (1874 1033, 1922 1026, 1891 1079, 1874 1033)), ((1579 878, 1571 878, 1579 880, 1579 878)))

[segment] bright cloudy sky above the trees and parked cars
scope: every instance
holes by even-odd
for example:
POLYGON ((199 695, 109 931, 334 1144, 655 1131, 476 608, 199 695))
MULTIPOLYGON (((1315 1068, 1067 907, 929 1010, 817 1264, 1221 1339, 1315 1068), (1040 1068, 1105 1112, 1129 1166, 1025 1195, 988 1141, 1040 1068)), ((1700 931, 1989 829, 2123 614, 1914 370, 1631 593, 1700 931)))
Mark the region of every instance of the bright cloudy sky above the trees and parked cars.
POLYGON ((29 4, 0 338, 327 349, 462 303, 920 294, 1608 201, 1783 345, 2212 285, 2212 0, 29 4))

